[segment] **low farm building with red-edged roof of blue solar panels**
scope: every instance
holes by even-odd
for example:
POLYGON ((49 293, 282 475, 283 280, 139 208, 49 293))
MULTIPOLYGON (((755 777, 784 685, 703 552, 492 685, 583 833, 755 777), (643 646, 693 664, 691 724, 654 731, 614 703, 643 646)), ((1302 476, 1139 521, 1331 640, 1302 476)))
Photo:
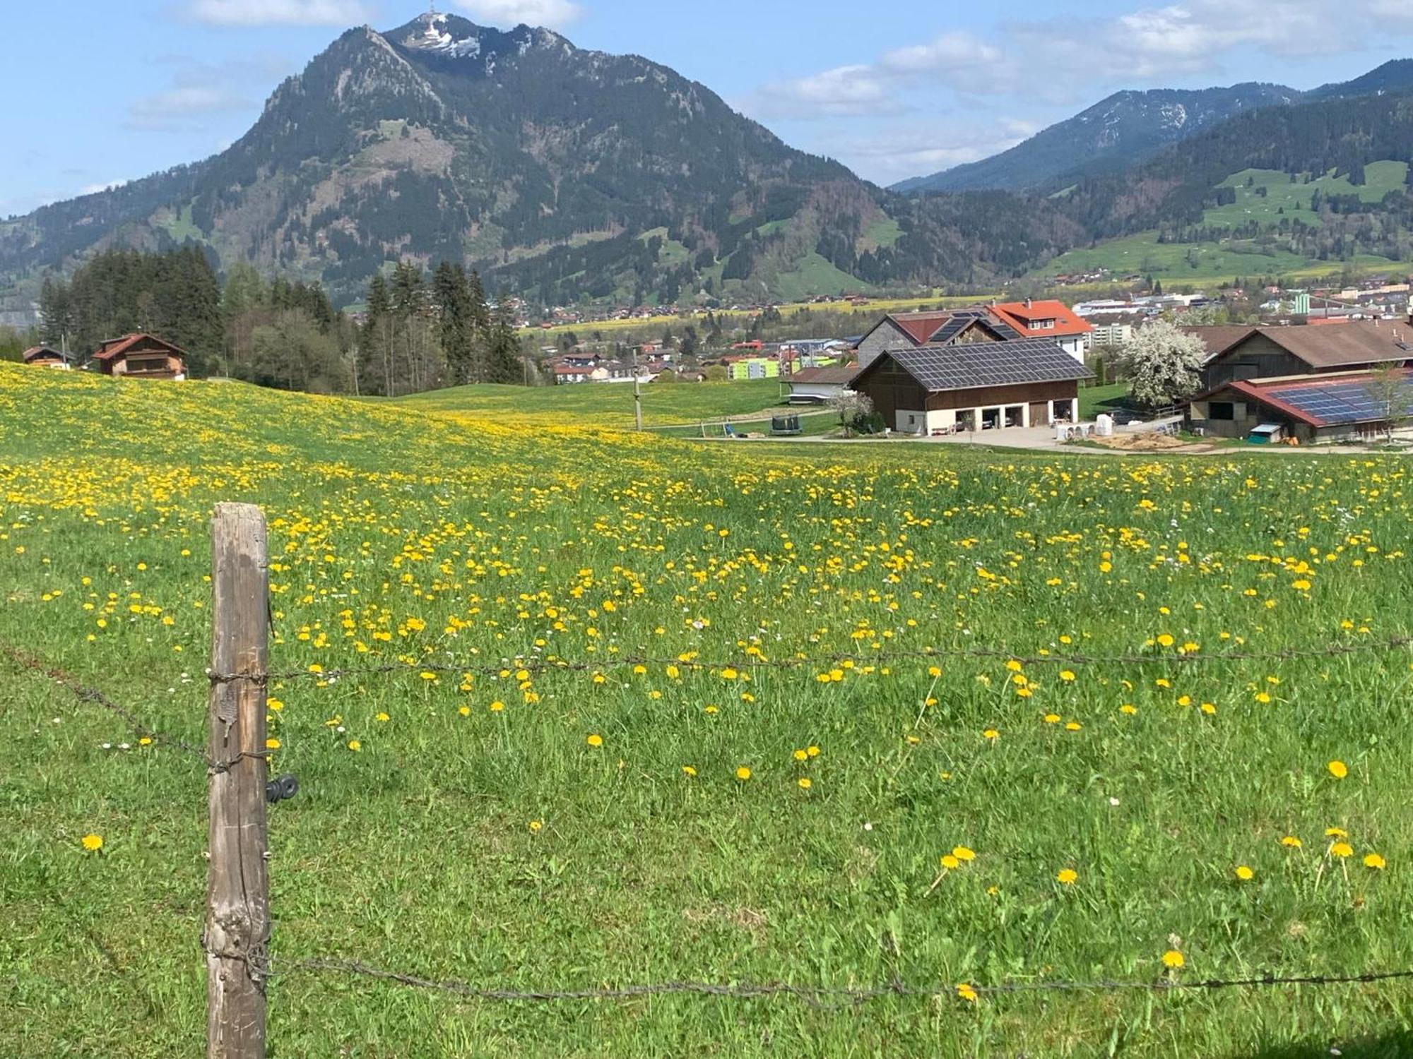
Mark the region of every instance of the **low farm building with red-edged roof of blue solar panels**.
POLYGON ((1219 438, 1371 438, 1390 421, 1413 418, 1413 371, 1375 380, 1371 371, 1241 378, 1194 397, 1191 417, 1219 438))

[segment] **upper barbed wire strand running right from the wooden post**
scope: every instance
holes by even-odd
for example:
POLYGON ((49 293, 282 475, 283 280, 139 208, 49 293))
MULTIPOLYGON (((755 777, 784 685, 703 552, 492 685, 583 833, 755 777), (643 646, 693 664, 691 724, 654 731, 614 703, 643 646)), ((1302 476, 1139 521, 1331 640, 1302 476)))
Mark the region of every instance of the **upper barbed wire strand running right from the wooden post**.
POLYGON ((384 662, 366 666, 335 666, 325 669, 318 664, 304 669, 270 671, 266 674, 219 674, 206 671, 212 683, 230 683, 233 681, 338 681, 349 676, 386 676, 391 674, 431 674, 441 675, 500 675, 506 671, 526 671, 530 674, 543 672, 591 672, 603 669, 622 669, 623 666, 677 666, 691 671, 722 671, 722 669, 801 669, 810 666, 836 666, 845 662, 851 665, 889 665, 901 661, 947 661, 958 658, 971 659, 1005 659, 1022 665, 1197 665, 1221 662, 1249 662, 1249 661, 1293 661, 1299 658, 1337 658, 1342 655, 1375 654, 1383 651, 1397 651, 1413 647, 1413 635, 1395 635, 1385 640, 1375 640, 1362 644, 1327 644, 1317 648, 1290 648, 1284 651, 1219 651, 1202 654, 1201 651, 1180 651, 1171 655, 1160 654, 1126 654, 1126 655, 1085 655, 1085 654, 1015 654, 1002 648, 926 648, 918 651, 879 651, 875 654, 828 654, 815 657, 790 658, 760 658, 746 655, 728 661, 701 661, 698 658, 660 658, 649 655, 613 655, 599 659, 565 659, 555 657, 516 657, 502 658, 496 664, 487 662, 384 662))

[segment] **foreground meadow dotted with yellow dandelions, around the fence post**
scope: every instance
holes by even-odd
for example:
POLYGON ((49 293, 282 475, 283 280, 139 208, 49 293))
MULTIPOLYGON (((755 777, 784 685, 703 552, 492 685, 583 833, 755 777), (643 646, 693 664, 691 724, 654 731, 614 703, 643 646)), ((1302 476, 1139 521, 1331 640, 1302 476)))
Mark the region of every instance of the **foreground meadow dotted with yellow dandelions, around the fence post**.
MULTIPOLYGON (((0 366, 0 645, 199 743, 211 508, 259 503, 277 970, 938 995, 290 973, 274 1055, 1409 1053, 1397 981, 971 991, 1413 963, 1406 460, 601 421, 0 366)), ((198 1053, 203 764, 0 692, 0 1055, 198 1053)))

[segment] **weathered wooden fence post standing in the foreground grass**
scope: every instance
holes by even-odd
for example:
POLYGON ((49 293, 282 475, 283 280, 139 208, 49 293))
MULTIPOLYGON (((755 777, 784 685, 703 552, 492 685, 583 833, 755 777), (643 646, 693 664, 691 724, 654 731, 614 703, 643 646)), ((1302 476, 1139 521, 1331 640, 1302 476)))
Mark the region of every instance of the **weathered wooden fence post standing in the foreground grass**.
POLYGON ((212 522, 206 884, 206 1056, 264 1059, 270 940, 266 870, 266 521, 216 504, 212 522))

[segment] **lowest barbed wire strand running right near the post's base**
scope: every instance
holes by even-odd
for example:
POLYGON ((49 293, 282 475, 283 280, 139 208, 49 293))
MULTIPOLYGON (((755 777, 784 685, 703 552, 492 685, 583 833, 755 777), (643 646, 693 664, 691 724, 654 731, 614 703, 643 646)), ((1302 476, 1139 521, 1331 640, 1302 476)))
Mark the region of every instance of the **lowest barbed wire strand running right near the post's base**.
POLYGON ((1243 979, 1194 979, 1183 980, 1173 971, 1152 981, 1006 981, 992 986, 962 981, 954 986, 942 983, 910 984, 893 979, 879 986, 800 986, 793 983, 709 983, 709 981, 658 981, 634 986, 609 986, 599 988, 496 988, 472 986, 466 981, 439 981, 404 971, 374 967, 360 960, 309 959, 290 964, 266 964, 266 977, 287 977, 298 973, 343 974, 374 979, 410 988, 449 993, 468 1000, 499 1003, 558 1003, 592 1000, 637 1000, 657 995, 721 997, 729 1000, 762 1000, 790 997, 815 1007, 856 1005, 885 997, 961 997, 974 1000, 986 995, 1007 995, 1023 993, 1116 993, 1116 991, 1197 991, 1225 988, 1260 988, 1282 986, 1355 986, 1379 981, 1413 979, 1413 970, 1362 971, 1358 974, 1262 974, 1243 979))

